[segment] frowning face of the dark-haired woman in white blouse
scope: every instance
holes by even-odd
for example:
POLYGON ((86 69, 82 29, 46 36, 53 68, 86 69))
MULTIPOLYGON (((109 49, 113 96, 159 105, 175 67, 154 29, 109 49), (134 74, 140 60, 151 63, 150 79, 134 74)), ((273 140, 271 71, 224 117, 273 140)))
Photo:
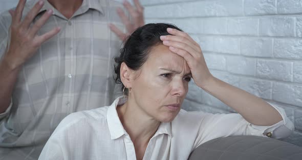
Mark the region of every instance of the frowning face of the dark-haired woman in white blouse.
POLYGON ((191 79, 185 59, 158 45, 135 74, 131 98, 150 118, 171 122, 181 109, 191 79))

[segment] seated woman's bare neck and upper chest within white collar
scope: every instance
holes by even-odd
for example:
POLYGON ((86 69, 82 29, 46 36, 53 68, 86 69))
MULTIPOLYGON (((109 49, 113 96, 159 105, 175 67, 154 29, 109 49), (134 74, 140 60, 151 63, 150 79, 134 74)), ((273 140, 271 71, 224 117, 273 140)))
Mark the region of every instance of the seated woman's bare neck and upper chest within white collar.
POLYGON ((131 99, 128 99, 124 105, 117 107, 117 112, 123 127, 134 143, 136 151, 140 148, 144 148, 145 151, 160 122, 146 115, 131 99))

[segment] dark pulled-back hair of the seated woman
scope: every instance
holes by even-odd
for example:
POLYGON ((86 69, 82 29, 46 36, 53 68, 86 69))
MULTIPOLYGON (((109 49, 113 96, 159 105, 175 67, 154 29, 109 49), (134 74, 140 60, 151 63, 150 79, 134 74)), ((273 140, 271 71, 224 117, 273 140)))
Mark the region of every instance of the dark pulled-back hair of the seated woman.
MULTIPOLYGON (((167 28, 174 28, 182 31, 172 24, 146 24, 137 28, 130 36, 124 41, 124 46, 120 50, 120 55, 114 58, 115 65, 115 83, 121 84, 123 90, 124 85, 120 78, 121 64, 124 62, 130 69, 138 70, 147 61, 148 53, 152 47, 162 44, 160 39, 161 35, 170 35, 167 28)), ((125 95, 128 95, 128 90, 125 89, 125 95)))

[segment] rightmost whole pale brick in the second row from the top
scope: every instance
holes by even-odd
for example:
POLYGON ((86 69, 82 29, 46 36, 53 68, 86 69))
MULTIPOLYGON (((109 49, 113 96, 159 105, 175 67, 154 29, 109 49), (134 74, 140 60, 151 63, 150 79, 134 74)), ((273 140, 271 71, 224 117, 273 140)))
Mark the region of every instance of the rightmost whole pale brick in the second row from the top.
POLYGON ((294 37, 294 17, 260 18, 259 35, 294 37))

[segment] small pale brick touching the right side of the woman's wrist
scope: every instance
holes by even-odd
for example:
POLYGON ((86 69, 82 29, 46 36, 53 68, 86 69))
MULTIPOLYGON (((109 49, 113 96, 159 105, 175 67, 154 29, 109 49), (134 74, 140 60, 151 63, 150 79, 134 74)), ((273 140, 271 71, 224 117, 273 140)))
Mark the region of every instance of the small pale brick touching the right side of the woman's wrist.
POLYGON ((204 53, 204 58, 208 68, 225 70, 226 69, 226 58, 224 55, 204 53))

